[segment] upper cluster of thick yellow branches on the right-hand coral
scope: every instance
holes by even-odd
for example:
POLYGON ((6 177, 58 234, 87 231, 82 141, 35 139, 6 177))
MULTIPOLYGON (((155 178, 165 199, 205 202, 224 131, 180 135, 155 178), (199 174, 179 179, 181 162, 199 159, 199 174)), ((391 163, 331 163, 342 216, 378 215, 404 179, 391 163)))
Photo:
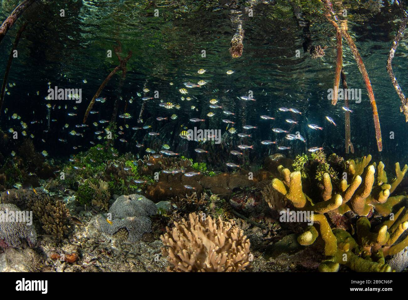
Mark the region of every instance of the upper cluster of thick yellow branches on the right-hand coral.
POLYGON ((382 216, 387 216, 392 212, 392 207, 405 199, 405 196, 389 197, 395 191, 397 185, 401 183, 408 166, 401 170, 399 163, 395 164, 395 178, 391 183, 387 183, 387 174, 384 171, 384 164, 380 162, 368 165, 371 156, 361 159, 349 160, 346 162, 346 170, 352 176, 350 183, 346 179, 341 180, 338 187, 333 187, 330 175, 323 174, 322 179, 322 199, 316 201, 310 199, 302 190, 302 176, 300 172, 290 172, 282 165, 278 167, 283 181, 275 178, 272 180, 272 187, 279 193, 286 196, 288 201, 299 210, 313 210, 317 213, 325 213, 336 210, 344 214, 352 210, 359 216, 367 216, 375 210, 382 216), (377 168, 377 180, 375 172, 377 168), (361 176, 360 176, 361 175, 361 176))

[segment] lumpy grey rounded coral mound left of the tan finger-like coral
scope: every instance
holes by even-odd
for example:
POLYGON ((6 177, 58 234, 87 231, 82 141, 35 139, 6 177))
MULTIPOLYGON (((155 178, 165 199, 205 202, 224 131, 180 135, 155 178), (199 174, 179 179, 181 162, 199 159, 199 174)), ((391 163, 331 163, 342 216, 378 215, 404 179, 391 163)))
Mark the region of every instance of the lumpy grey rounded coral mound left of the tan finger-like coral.
POLYGON ((104 234, 113 236, 119 232, 124 238, 127 231, 127 241, 135 243, 143 234, 151 232, 152 222, 149 216, 157 213, 153 201, 138 194, 118 197, 109 209, 111 219, 102 214, 97 217, 97 224, 104 234), (109 222, 108 222, 109 221, 109 222))

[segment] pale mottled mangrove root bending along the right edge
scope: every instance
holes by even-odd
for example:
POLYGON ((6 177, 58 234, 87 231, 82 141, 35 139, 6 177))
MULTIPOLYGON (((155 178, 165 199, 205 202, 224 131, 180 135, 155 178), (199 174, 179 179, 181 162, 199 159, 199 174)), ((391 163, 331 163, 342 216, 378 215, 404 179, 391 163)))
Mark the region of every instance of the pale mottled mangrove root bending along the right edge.
POLYGON ((404 11, 404 19, 401 22, 401 25, 399 26, 399 29, 397 31, 397 35, 395 35, 394 40, 392 41, 392 46, 390 53, 388 54, 388 60, 387 60, 387 72, 388 75, 390 75, 392 85, 395 88, 395 91, 398 94, 399 99, 401 99, 401 106, 399 110, 401 113, 405 115, 405 121, 408 122, 408 99, 404 96, 404 93, 402 92, 401 88, 399 87, 399 84, 397 82, 397 78, 394 75, 394 72, 392 72, 392 58, 394 58, 395 51, 397 50, 399 41, 401 40, 402 34, 404 33, 405 27, 408 22, 408 15, 406 11, 404 11))

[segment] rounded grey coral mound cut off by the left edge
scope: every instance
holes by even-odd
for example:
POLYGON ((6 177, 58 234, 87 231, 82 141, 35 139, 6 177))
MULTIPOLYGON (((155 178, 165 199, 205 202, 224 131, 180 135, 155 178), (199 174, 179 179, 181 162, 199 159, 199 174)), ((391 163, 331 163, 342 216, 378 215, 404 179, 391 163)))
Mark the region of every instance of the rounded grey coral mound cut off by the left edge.
MULTIPOLYGON (((0 204, 0 212, 6 214, 8 212, 20 212, 20 209, 13 204, 0 204)), ((22 240, 27 240, 30 246, 37 243, 37 233, 33 225, 27 225, 29 220, 14 220, 15 222, 6 222, 0 220, 0 247, 19 247, 22 245, 22 240)))

